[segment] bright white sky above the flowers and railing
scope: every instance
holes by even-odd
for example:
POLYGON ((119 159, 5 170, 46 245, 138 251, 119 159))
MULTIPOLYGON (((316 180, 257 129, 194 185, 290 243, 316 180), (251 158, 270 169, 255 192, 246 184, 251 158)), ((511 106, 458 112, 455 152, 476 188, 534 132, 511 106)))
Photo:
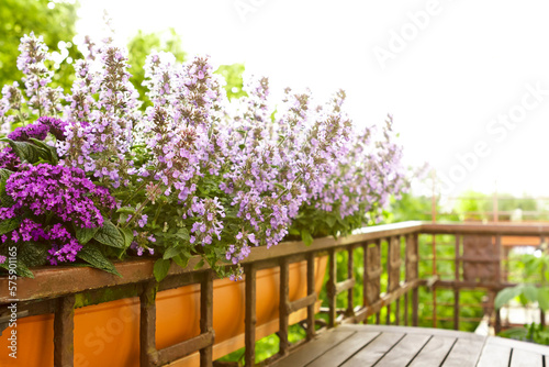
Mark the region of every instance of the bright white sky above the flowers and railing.
POLYGON ((347 91, 357 125, 394 116, 406 163, 464 189, 549 197, 547 0, 81 0, 121 38, 173 26, 191 55, 244 63, 277 91, 347 91), (131 4, 131 7, 128 7, 131 4))

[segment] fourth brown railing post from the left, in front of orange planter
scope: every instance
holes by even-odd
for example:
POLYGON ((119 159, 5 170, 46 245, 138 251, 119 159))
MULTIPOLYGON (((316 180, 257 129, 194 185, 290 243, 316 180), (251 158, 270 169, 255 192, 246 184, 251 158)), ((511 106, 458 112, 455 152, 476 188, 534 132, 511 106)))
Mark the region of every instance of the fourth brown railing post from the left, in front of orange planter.
POLYGON ((246 274, 246 315, 245 315, 245 365, 254 366, 256 360, 256 266, 249 264, 246 274))

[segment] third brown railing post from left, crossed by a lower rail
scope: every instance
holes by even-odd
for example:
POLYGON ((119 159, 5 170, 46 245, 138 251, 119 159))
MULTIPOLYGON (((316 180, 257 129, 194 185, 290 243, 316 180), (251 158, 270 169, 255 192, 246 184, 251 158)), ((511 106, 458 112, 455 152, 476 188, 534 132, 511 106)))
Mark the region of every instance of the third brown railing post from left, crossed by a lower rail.
MULTIPOLYGON (((213 271, 206 270, 200 282, 200 332, 213 332, 213 271)), ((200 366, 211 367, 213 347, 208 345, 200 349, 200 366)))

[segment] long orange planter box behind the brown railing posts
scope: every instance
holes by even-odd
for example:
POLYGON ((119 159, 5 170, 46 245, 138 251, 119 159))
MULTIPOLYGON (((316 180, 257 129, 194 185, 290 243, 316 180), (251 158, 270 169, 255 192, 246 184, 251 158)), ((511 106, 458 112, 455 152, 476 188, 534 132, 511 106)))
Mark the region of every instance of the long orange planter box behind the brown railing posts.
MULTIPOLYGON (((326 257, 315 260, 315 290, 318 293, 326 270, 326 257)), ((165 348, 199 334, 200 286, 158 292, 156 346, 165 348)), ((278 331, 279 268, 257 273, 257 329, 261 338, 278 331)), ((214 281, 214 358, 244 346, 244 282, 214 281)), ((290 265, 290 300, 306 296, 306 263, 290 265)), ((320 303, 317 303, 317 308, 320 303)), ((306 318, 305 310, 290 322, 306 318)), ((18 321, 18 359, 8 356, 8 333, 0 336, 0 366, 53 366, 53 314, 18 321)), ((75 310, 75 366, 138 366, 138 298, 89 305, 75 310)), ((197 366, 198 355, 172 364, 197 366)))

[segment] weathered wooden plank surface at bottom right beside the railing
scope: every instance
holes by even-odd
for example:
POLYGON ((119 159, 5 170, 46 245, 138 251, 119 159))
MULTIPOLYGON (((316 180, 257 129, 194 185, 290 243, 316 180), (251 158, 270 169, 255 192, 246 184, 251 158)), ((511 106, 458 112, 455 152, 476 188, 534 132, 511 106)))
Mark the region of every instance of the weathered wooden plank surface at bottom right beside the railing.
POLYGON ((548 363, 549 346, 502 337, 426 327, 340 325, 274 366, 547 367, 548 363))

